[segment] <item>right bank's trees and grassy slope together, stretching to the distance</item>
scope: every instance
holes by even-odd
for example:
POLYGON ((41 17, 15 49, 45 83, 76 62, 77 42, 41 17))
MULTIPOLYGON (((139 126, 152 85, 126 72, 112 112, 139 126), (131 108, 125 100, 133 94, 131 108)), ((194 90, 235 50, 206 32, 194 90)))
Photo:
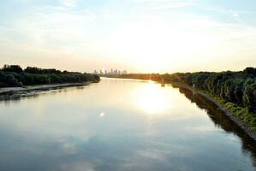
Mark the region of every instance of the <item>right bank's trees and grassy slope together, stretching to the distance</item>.
POLYGON ((120 77, 193 86, 215 98, 235 116, 256 129, 256 68, 246 68, 240 72, 127 74, 120 77))

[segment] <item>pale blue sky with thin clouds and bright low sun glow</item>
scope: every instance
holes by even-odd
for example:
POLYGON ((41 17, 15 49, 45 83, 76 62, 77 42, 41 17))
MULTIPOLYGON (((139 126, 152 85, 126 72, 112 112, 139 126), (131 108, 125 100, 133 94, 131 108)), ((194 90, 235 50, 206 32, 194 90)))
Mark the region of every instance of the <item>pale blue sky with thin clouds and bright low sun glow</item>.
POLYGON ((255 0, 0 0, 0 66, 130 73, 256 67, 255 0))

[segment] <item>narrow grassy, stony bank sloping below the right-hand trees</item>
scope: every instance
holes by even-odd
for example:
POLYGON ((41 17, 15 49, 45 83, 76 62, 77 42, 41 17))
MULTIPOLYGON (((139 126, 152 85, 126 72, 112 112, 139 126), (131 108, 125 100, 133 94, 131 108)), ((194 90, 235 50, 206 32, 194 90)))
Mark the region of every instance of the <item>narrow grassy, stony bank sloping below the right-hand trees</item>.
POLYGON ((231 111, 229 111, 229 109, 227 109, 223 103, 217 102, 217 100, 214 97, 211 97, 210 95, 206 94, 203 91, 195 90, 193 87, 188 86, 188 85, 183 85, 181 83, 172 83, 171 85, 174 85, 175 87, 186 88, 190 91, 193 91, 194 93, 199 94, 199 96, 205 97, 205 99, 207 99, 207 100, 211 101, 212 103, 214 103, 215 105, 217 105, 218 109, 223 110, 223 113, 225 115, 227 115, 231 121, 234 121, 236 125, 241 127, 241 129, 243 129, 245 131, 245 133, 247 133, 252 139, 256 140, 256 129, 253 127, 249 127, 247 122, 242 121, 240 118, 235 116, 235 114, 233 114, 231 111))

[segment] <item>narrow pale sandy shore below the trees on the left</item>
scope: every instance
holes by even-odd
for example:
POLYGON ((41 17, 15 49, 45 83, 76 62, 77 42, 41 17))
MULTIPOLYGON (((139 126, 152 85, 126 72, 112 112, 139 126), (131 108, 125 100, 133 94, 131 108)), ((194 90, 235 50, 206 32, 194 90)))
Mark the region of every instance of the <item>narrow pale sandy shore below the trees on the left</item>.
MULTIPOLYGON (((23 87, 5 87, 0 88, 0 100, 5 99, 6 97, 15 97, 15 95, 22 96, 28 92, 36 93, 38 91, 50 91, 56 90, 59 88, 69 87, 69 86, 84 86, 90 85, 92 81, 84 83, 64 83, 64 84, 51 84, 51 85, 31 85, 23 87)), ((31 95, 31 93, 29 94, 31 95)))

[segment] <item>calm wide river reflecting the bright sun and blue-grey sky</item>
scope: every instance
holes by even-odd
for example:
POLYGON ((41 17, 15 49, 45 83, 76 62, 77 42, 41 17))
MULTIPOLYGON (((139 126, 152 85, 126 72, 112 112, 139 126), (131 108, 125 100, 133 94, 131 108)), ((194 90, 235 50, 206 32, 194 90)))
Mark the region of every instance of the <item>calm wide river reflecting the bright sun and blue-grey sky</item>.
POLYGON ((1 171, 254 171, 255 144, 203 97, 149 81, 0 102, 1 171))

